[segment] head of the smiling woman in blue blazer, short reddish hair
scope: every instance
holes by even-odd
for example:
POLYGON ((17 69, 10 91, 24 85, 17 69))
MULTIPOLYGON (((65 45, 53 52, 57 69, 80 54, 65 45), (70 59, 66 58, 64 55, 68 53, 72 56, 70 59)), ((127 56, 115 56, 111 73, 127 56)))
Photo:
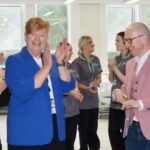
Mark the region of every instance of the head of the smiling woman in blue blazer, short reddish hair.
POLYGON ((48 21, 43 21, 41 18, 30 19, 25 26, 25 41, 27 48, 34 57, 40 57, 41 50, 47 44, 49 31, 48 21))

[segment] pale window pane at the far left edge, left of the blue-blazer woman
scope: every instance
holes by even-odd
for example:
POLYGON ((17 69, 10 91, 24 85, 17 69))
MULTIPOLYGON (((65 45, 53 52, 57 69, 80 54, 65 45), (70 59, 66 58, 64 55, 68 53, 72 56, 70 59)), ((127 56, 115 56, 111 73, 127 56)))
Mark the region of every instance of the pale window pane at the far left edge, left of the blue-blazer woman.
POLYGON ((4 52, 21 48, 20 14, 19 6, 0 6, 0 50, 4 52))

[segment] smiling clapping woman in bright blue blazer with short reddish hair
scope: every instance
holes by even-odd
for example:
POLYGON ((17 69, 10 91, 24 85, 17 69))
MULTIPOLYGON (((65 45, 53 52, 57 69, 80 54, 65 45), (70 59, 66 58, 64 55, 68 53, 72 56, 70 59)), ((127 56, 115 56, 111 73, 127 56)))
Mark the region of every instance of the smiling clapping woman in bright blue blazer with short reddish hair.
POLYGON ((49 24, 39 17, 25 26, 26 46, 6 61, 8 150, 65 150, 62 95, 74 88, 64 64, 67 40, 56 55, 47 43, 49 24), (42 54, 42 58, 41 58, 42 54))

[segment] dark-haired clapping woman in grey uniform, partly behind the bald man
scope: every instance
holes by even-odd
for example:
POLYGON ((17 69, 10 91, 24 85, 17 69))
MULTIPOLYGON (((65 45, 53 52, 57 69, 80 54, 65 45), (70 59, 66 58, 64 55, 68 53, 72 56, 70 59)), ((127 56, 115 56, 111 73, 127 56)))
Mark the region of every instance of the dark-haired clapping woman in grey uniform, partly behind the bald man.
MULTIPOLYGON (((121 87, 125 80, 125 65, 132 58, 129 49, 124 43, 124 32, 119 32, 116 35, 116 48, 120 54, 115 57, 115 60, 110 60, 108 63, 109 80, 112 83, 112 89, 121 87)), ((125 150, 123 139, 123 129, 125 112, 121 110, 122 105, 114 102, 111 98, 109 109, 108 133, 112 150, 125 150)))

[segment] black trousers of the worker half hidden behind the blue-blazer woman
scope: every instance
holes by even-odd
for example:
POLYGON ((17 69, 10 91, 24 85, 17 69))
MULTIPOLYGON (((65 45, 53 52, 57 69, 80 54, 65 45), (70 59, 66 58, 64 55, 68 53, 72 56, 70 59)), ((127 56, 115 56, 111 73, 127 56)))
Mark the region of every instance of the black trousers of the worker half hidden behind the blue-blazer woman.
POLYGON ((77 125, 78 115, 66 118, 66 150, 74 150, 77 125))

